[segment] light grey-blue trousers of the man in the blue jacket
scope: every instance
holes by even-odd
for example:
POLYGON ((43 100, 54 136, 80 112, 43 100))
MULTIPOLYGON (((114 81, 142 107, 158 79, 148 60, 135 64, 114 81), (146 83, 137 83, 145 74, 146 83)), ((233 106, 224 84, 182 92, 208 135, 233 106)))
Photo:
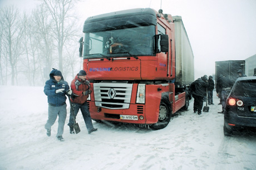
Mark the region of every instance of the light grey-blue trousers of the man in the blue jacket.
POLYGON ((56 137, 62 136, 64 125, 67 117, 67 105, 51 106, 48 105, 48 120, 46 122, 46 130, 51 130, 52 125, 55 123, 58 116, 58 132, 56 137))

